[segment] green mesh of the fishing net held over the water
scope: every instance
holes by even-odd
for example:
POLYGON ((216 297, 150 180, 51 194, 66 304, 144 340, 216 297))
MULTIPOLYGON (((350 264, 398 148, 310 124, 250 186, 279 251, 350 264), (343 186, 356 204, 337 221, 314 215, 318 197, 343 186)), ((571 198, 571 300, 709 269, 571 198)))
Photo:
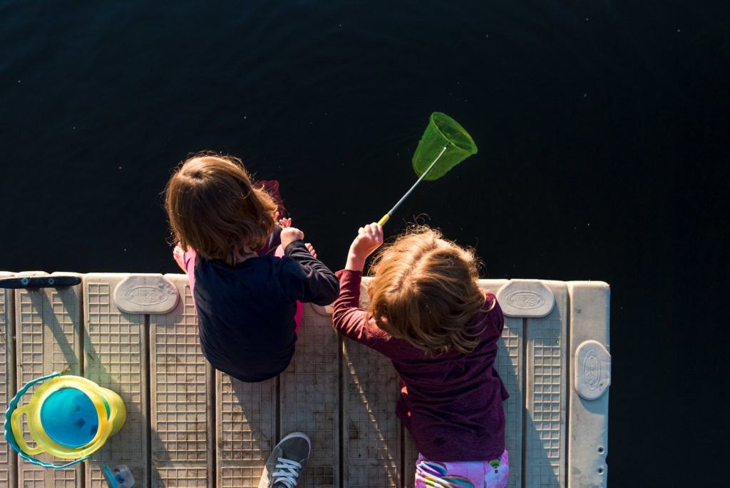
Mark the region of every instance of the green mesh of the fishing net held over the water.
POLYGON ((423 137, 418 141, 418 148, 415 148, 413 154, 412 164, 416 175, 423 175, 449 142, 451 145, 426 175, 426 180, 441 178, 449 169, 477 153, 477 145, 464 127, 445 113, 432 113, 429 126, 423 132, 423 137))

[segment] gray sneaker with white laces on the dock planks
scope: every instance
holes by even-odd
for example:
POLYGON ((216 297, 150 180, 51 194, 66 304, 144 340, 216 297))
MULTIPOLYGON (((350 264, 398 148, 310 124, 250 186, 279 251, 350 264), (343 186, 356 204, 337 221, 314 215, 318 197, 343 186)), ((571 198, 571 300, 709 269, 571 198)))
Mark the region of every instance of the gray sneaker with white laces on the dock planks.
POLYGON ((312 441, 304 432, 292 432, 274 447, 266 460, 258 488, 296 487, 310 457, 312 441))

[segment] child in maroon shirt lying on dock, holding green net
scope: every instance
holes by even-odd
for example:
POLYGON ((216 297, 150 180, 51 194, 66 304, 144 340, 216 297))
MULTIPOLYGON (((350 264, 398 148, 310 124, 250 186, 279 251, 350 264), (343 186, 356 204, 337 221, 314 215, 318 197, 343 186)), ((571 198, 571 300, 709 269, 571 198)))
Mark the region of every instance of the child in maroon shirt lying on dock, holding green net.
POLYGON ((377 255, 363 310, 363 267, 382 243, 378 224, 359 229, 337 272, 334 328, 393 361, 396 413, 420 451, 416 487, 506 486, 508 394, 494 369, 504 317, 477 284, 475 253, 426 226, 412 229, 377 255))

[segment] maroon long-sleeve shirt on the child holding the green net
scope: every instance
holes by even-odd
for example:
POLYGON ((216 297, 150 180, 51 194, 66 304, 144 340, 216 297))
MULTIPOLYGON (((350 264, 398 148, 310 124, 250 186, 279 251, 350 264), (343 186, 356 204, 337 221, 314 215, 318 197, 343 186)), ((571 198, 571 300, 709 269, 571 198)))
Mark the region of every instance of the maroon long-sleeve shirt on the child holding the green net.
POLYGON ((429 356, 406 340, 392 338, 368 321, 358 308, 362 273, 342 270, 332 319, 337 332, 363 343, 393 361, 401 377, 396 414, 429 460, 485 461, 504 451, 504 408, 509 396, 494 369, 502 335, 502 308, 484 290, 486 313, 477 313, 467 329, 480 333, 474 351, 429 356))

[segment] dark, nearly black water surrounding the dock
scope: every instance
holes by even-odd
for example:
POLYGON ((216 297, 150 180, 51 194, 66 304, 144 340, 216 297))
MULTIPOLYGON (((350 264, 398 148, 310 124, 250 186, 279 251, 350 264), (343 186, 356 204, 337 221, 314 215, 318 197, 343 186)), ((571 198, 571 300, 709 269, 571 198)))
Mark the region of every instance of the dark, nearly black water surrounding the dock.
POLYGON ((386 232, 610 283, 610 484, 723 484, 730 4, 453 3, 0 1, 0 270, 176 272, 159 194, 201 149, 340 267, 442 111, 480 151, 386 232))

